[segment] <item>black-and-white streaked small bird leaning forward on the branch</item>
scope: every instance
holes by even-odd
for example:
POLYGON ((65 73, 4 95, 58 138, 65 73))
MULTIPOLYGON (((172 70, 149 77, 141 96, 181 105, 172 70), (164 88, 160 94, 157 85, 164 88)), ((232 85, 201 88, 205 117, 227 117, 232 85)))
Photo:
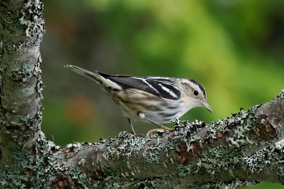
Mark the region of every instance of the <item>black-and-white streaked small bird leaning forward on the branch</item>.
POLYGON ((108 75, 95 73, 74 65, 64 67, 95 80, 112 100, 122 109, 135 135, 132 120, 150 122, 158 126, 149 135, 160 129, 173 130, 162 125, 195 107, 205 107, 212 113, 207 103, 206 91, 197 81, 179 77, 136 77, 131 75, 108 75))

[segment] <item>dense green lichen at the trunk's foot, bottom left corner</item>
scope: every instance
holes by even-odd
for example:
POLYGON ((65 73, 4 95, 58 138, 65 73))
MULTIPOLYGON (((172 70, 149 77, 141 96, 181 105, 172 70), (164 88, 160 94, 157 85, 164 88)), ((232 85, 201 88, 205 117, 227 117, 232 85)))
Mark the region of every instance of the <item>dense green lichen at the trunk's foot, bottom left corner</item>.
POLYGON ((46 188, 45 184, 51 182, 65 169, 53 156, 59 146, 39 138, 35 145, 35 152, 24 148, 16 150, 13 154, 14 163, 11 166, 0 167, 1 188, 46 188))

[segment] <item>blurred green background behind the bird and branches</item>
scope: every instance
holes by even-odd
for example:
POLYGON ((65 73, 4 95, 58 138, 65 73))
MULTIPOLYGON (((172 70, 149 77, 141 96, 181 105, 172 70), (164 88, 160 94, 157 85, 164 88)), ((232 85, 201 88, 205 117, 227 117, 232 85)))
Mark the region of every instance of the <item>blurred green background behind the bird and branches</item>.
MULTIPOLYGON (((187 77, 205 88, 208 123, 270 101, 284 89, 284 1, 43 0, 42 129, 57 145, 131 132, 120 108, 63 67, 135 76, 187 77)), ((136 133, 153 124, 134 122, 136 133)), ((172 127, 172 124, 165 124, 172 127)), ((255 188, 284 188, 264 183, 255 188)))

